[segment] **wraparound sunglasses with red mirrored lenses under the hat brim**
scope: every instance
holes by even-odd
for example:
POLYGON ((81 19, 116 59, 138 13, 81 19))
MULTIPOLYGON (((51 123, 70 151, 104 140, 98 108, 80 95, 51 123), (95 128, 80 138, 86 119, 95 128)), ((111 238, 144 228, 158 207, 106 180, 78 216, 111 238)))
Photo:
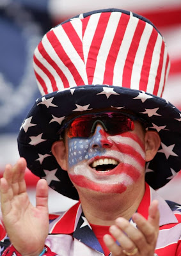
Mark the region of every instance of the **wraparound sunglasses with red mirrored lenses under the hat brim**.
POLYGON ((72 118, 59 130, 59 134, 67 129, 69 138, 89 138, 95 131, 97 124, 102 125, 104 130, 110 135, 120 134, 122 132, 133 131, 134 121, 138 120, 143 124, 146 121, 142 118, 129 113, 120 112, 100 112, 100 113, 86 113, 72 118))

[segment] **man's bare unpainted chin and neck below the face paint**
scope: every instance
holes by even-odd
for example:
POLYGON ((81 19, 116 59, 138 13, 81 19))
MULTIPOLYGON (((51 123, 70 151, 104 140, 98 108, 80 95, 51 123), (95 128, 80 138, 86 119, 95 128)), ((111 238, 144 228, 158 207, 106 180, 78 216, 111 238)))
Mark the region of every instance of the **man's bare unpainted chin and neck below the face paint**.
POLYGON ((94 191, 88 194, 87 191, 83 193, 83 189, 81 189, 79 196, 84 215, 90 223, 110 226, 118 217, 129 220, 138 209, 144 193, 145 183, 142 186, 139 184, 137 189, 128 188, 122 194, 105 194, 94 191), (133 189, 134 193, 132 193, 133 189))

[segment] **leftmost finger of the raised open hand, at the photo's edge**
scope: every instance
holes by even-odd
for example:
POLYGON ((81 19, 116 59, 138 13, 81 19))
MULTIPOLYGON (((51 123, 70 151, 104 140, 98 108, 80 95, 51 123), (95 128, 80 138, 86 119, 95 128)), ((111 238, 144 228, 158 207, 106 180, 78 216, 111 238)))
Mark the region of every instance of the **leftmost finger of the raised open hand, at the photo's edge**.
POLYGON ((8 182, 6 179, 1 178, 1 211, 4 214, 8 214, 10 212, 12 205, 12 189, 8 186, 8 182))

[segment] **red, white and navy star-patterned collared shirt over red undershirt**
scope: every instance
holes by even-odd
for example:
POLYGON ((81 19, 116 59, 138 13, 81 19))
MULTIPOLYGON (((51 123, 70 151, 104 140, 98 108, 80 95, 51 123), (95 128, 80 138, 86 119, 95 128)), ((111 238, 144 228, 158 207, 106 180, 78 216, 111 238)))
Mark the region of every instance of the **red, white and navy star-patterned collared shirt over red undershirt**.
MULTIPOLYGON (((148 184, 138 212, 148 218, 148 207, 152 200, 159 201, 159 237, 155 255, 181 256, 181 205, 165 201, 148 184)), ((130 220, 132 221, 132 220, 130 220)), ((134 225, 134 223, 132 223, 134 225)), ((51 216, 49 236, 45 241, 49 250, 44 255, 60 256, 103 256, 104 251, 86 220, 80 202, 67 212, 51 216)), ((4 255, 12 256, 13 250, 4 255)))

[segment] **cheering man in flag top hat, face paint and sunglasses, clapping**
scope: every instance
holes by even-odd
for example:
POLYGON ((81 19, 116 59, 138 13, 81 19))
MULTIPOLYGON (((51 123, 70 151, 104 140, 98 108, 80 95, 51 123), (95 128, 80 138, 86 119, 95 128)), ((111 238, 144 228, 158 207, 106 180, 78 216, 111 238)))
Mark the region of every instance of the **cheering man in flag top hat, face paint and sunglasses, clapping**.
POLYGON ((180 170, 180 111, 160 98, 169 58, 159 31, 123 10, 84 13, 43 37, 34 67, 43 96, 18 142, 43 179, 33 207, 26 161, 6 166, 4 255, 181 255, 180 206, 153 190, 180 170), (45 179, 79 200, 50 221, 45 179))

